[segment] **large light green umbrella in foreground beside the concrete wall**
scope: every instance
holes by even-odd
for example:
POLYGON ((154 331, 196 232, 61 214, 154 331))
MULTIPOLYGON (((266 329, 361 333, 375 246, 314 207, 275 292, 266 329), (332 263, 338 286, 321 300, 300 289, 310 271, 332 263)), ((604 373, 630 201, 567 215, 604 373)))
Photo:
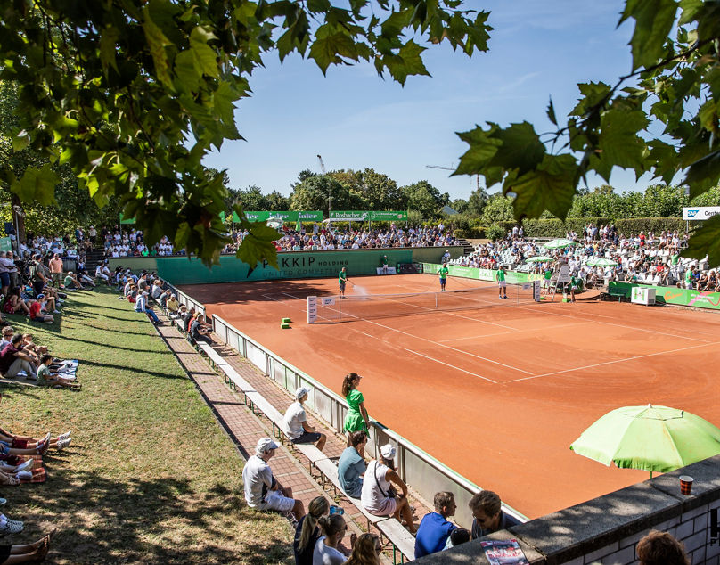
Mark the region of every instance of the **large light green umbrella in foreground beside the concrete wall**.
POLYGON ((667 406, 626 406, 594 422, 570 446, 623 469, 667 472, 720 454, 720 429, 667 406))

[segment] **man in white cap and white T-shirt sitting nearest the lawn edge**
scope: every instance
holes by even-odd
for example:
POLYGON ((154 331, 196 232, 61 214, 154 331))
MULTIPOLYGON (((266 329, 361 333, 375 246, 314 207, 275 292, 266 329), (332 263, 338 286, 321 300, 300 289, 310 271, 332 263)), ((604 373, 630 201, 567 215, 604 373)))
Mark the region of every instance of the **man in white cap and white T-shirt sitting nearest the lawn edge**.
POLYGON ((255 454, 248 459, 242 469, 245 500, 250 508, 292 512, 299 521, 305 516, 305 506, 302 501, 292 497, 290 487, 282 487, 273 477, 273 471, 267 464, 273 458, 275 449, 277 444, 271 438, 258 439, 255 454))

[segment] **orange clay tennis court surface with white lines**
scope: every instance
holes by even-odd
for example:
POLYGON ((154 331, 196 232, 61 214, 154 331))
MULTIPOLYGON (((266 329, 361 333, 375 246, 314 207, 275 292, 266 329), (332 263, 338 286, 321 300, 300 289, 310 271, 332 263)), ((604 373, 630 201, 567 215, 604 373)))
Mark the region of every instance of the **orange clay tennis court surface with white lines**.
MULTIPOLYGON (((348 296, 439 290, 429 274, 350 280, 348 296)), ((447 288, 482 284, 490 283, 451 277, 447 288)), ((372 418, 529 518, 648 478, 569 450, 614 408, 667 405, 720 423, 712 313, 556 297, 397 317, 386 304, 380 318, 308 325, 303 298, 337 292, 336 280, 182 290, 338 394, 343 375, 364 375, 372 418), (290 330, 281 317, 292 318, 290 330)), ((482 300, 495 303, 488 290, 482 300)))

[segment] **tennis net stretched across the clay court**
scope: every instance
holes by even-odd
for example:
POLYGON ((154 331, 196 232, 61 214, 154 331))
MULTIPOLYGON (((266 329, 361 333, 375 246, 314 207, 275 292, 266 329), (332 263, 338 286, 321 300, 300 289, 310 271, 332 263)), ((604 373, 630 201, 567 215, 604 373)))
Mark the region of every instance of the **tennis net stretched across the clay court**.
POLYGON ((445 292, 307 297, 307 322, 339 322, 369 318, 428 314, 435 311, 474 310, 529 304, 535 300, 534 282, 508 284, 507 299, 498 298, 496 286, 445 292))

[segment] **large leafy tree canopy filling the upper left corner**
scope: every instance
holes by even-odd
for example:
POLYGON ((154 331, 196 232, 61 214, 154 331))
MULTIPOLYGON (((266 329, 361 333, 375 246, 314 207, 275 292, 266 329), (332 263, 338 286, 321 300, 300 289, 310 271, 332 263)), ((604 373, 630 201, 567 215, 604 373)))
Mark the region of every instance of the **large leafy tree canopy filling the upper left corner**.
MULTIPOLYGON (((400 84, 428 75, 424 45, 487 50, 487 13, 460 0, 121 0, 6 3, 0 79, 19 85, 12 151, 31 148, 67 165, 99 205, 117 198, 148 242, 217 262, 227 238, 218 217, 229 196, 203 157, 241 139, 235 104, 263 58, 290 53, 331 65, 370 61, 400 84), (347 6, 347 7, 346 7, 347 6), (417 40, 417 41, 416 41, 417 40), (418 43, 419 42, 419 43, 418 43)), ((54 200, 53 168, 0 183, 23 202, 54 200)), ((241 213, 240 207, 237 211, 241 213)), ((276 265, 273 229, 251 224, 238 257, 276 265)))

